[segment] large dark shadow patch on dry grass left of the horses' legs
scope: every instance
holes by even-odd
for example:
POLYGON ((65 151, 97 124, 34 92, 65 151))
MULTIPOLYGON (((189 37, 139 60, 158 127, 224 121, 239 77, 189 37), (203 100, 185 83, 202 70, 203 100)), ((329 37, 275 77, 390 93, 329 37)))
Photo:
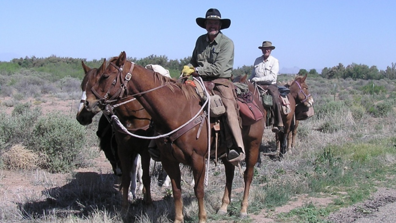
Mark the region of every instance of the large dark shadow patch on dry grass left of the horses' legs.
POLYGON ((49 215, 78 217, 103 210, 114 214, 114 205, 120 204, 121 195, 114 188, 115 175, 78 172, 70 183, 43 190, 44 200, 18 203, 24 219, 40 219, 49 215))

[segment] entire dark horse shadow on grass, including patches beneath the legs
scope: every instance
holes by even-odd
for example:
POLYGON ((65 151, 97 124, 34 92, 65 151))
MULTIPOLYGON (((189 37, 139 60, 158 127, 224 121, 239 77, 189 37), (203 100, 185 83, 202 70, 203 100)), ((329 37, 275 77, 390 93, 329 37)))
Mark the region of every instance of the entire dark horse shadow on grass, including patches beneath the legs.
MULTIPOLYGON (((70 183, 60 187, 43 190, 44 200, 17 203, 21 216, 25 220, 44 219, 48 216, 66 218, 70 215, 86 218, 99 212, 105 212, 109 217, 119 216, 122 195, 114 184, 117 177, 114 174, 100 174, 95 172, 78 172, 72 176, 70 183)), ((189 205, 195 200, 187 196, 183 202, 189 205)), ((129 201, 128 215, 123 217, 124 222, 135 222, 141 213, 151 213, 151 222, 156 222, 159 215, 167 213, 169 219, 174 218, 172 207, 173 198, 165 196, 146 205, 142 198, 129 201), (162 207, 166 210, 158 211, 162 207)), ((189 217, 187 216, 186 219, 189 217)))

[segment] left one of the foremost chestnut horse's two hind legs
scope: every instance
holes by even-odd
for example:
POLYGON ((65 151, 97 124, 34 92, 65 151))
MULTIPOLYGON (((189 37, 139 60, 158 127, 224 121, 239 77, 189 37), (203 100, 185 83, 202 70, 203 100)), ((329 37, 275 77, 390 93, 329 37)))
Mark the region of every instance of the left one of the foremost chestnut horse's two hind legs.
POLYGON ((217 211, 217 214, 226 215, 228 205, 231 202, 231 190, 232 190, 232 181, 234 181, 235 166, 232 165, 230 162, 228 162, 226 158, 222 158, 221 160, 223 161, 225 167, 226 183, 225 183, 223 200, 221 202, 221 207, 217 211))

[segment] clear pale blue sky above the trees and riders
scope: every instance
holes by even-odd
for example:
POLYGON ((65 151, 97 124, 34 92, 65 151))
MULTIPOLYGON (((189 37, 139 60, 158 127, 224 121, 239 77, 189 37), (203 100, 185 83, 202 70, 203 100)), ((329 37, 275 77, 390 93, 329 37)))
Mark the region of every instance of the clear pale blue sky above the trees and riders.
POLYGON ((121 51, 185 58, 206 32, 195 19, 209 8, 231 19, 223 33, 234 41, 234 68, 252 65, 264 40, 276 46, 272 56, 281 69, 338 63, 386 69, 396 62, 395 0, 1 0, 0 61, 99 60, 121 51))

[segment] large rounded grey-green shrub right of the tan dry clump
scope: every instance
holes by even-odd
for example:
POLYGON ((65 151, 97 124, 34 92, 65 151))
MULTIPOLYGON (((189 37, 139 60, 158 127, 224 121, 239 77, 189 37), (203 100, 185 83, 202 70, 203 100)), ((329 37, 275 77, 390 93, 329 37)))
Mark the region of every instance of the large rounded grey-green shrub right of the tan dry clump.
POLYGON ((70 171, 82 166, 84 157, 82 148, 85 141, 84 127, 60 113, 40 118, 33 129, 30 144, 35 151, 48 156, 47 167, 50 171, 70 171))

